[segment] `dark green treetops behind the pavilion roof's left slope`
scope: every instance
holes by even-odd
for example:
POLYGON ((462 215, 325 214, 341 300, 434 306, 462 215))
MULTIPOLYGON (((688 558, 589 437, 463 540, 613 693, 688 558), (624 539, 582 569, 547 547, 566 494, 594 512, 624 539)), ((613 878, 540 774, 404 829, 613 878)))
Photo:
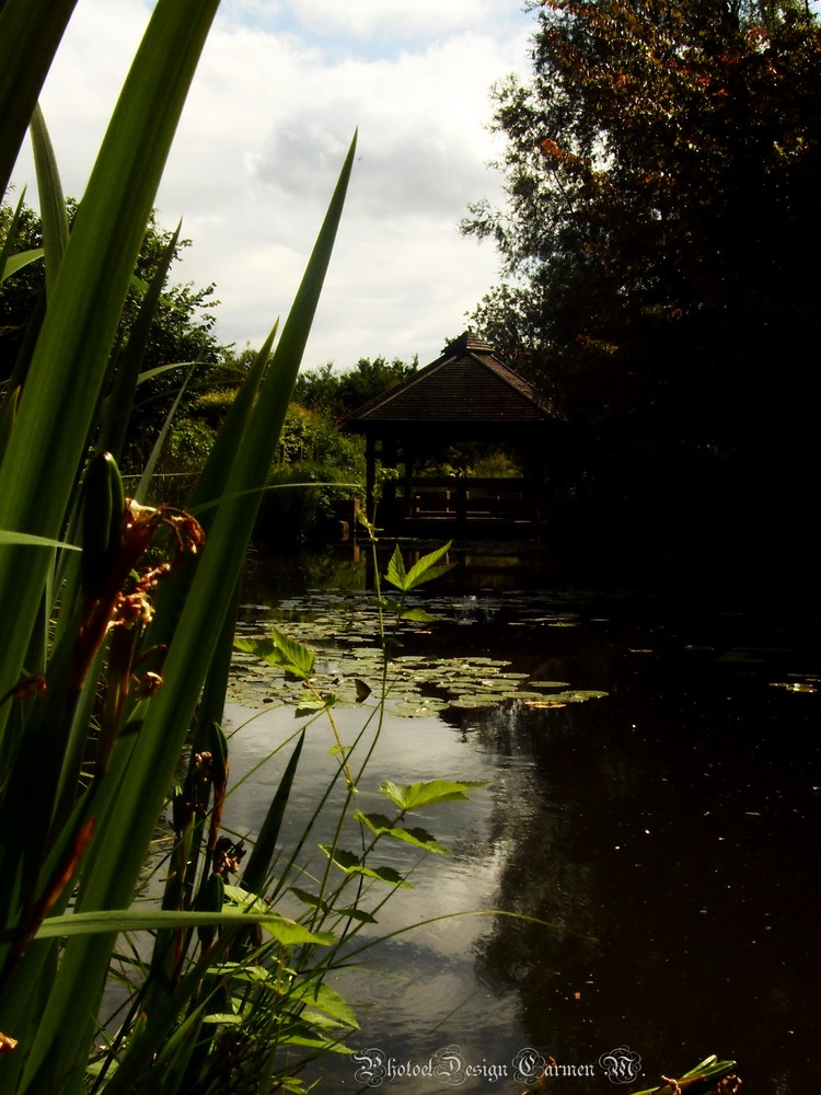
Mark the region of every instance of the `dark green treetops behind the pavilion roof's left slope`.
POLYGON ((328 361, 299 374, 293 402, 338 420, 406 380, 417 368, 416 358, 408 364, 400 358, 360 357, 351 369, 340 371, 328 361))

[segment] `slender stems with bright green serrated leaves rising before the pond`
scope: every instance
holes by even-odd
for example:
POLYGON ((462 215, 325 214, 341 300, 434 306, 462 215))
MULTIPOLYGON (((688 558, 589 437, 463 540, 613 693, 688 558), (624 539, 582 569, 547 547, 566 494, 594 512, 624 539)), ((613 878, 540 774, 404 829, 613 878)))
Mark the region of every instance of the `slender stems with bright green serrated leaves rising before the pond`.
MULTIPOLYGON (((371 526, 370 531, 375 553, 375 529, 371 526)), ((408 591, 449 568, 447 565, 438 565, 447 551, 448 545, 444 545, 407 569, 397 548, 385 578, 401 590, 404 599, 408 591)), ((382 601, 379 587, 378 580, 375 599, 384 607, 386 602, 382 601)), ((414 610, 405 610, 403 602, 392 604, 391 609, 396 623, 403 619, 416 619, 414 610)), ((255 961, 253 988, 243 986, 244 1004, 241 1005, 236 995, 232 998, 232 1014, 242 1016, 234 1021, 235 1024, 243 1030, 250 1025, 253 1031, 259 1016, 270 1012, 271 981, 278 986, 277 1035, 274 1040, 280 1051, 290 1049, 293 1053, 294 1049, 301 1047, 303 1052, 311 1056, 320 1050, 344 1048, 343 1039, 358 1029, 354 1012, 338 993, 334 993, 325 1000, 324 1007, 319 1007, 322 1013, 320 1022, 315 994, 320 993, 320 999, 323 999, 323 994, 328 991, 324 978, 331 970, 356 963, 363 952, 378 942, 373 938, 362 942, 358 937, 365 927, 378 922, 379 911, 389 898, 397 890, 412 886, 409 876, 415 864, 397 869, 396 856, 391 852, 390 845, 398 843, 419 855, 449 855, 449 850, 426 828, 416 825, 412 815, 421 810, 427 812, 441 803, 464 800, 470 791, 484 786, 484 783, 476 781, 432 780, 409 785, 385 781, 379 786, 379 792, 386 800, 390 812, 366 811, 357 807, 368 762, 381 733, 385 701, 391 688, 388 675, 390 644, 385 641, 384 618, 380 615, 379 620, 384 666, 381 689, 373 695, 369 685, 361 680, 357 681, 357 702, 362 706, 363 718, 360 730, 349 745, 343 742, 334 718, 334 708, 340 700, 333 692, 322 691, 317 685, 314 680, 316 659, 307 646, 277 629, 273 629, 264 637, 238 637, 234 641, 239 650, 261 658, 301 682, 302 694, 292 698, 291 702, 294 704, 296 716, 307 718, 308 723, 299 731, 289 764, 290 774, 298 763, 307 726, 320 717, 326 718, 332 727, 334 744, 331 751, 337 762, 329 785, 317 787, 317 804, 300 834, 297 848, 289 857, 280 854, 273 860, 263 888, 257 885, 258 878, 255 878, 253 886, 257 894, 265 894, 267 906, 292 899, 300 902, 307 911, 298 917, 299 922, 314 934, 300 948, 299 954, 291 954, 288 959, 290 983, 296 992, 280 986, 277 980, 280 978, 279 965, 271 960, 268 952, 255 961), (317 845, 325 857, 324 867, 321 866, 317 871, 311 865, 310 857, 305 862, 302 852, 331 792, 338 784, 343 787, 342 803, 335 808, 333 838, 317 845), (386 862, 380 855, 383 851, 388 852, 386 862), (326 945, 327 933, 332 938, 329 945, 326 945), (320 947, 323 949, 317 954, 320 947), (308 1006, 309 998, 311 1006, 308 1006)), ((271 829, 266 821, 254 844, 252 858, 257 857, 261 862, 271 860, 277 835, 278 829, 271 829)), ((245 885, 247 871, 242 878, 245 885)), ((239 891, 231 892, 236 895, 239 891)), ((253 908, 261 909, 256 904, 253 908)), ((271 1023, 266 1022, 265 1028, 270 1038, 271 1023)), ((251 1037, 253 1039, 253 1033, 251 1037)), ((247 1038, 243 1039, 244 1045, 247 1042, 247 1038)), ((291 1060, 293 1061, 293 1057, 291 1060)))

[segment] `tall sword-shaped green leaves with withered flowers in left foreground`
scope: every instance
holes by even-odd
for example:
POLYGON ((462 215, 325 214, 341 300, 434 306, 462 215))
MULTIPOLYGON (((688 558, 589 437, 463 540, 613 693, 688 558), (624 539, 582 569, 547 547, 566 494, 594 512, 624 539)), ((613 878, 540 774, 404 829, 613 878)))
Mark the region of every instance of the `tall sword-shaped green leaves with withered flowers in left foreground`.
MULTIPOLYGON (((73 7, 0 8, 3 186, 73 7)), ((236 585, 355 145, 281 335, 275 327, 256 355, 185 507, 126 498, 115 459, 101 451, 116 454, 134 402, 141 332, 163 272, 146 292, 130 354, 113 353, 116 332, 217 7, 157 3, 70 233, 38 115, 32 127, 46 297, 0 414, 0 1088, 10 1095, 216 1083, 217 1064, 230 1071, 231 1058, 211 1058, 204 1031, 238 948, 253 968, 248 947, 257 945, 247 940, 257 931, 280 955, 331 942, 256 903, 262 852, 244 872, 247 900, 227 891, 241 856, 219 834, 219 723, 236 585), (162 908, 144 909, 135 894, 147 885, 147 855, 188 740, 187 775, 171 792, 177 869, 162 908), (153 952, 147 958, 144 942, 132 944, 120 966, 131 1010, 101 1029, 117 940, 132 932, 154 932, 153 952), (181 961, 194 940, 195 956, 181 961)), ((22 261, 2 255, 7 272, 22 261)), ((144 489, 143 481, 139 497, 144 489)), ((270 828, 287 800, 284 780, 270 828)), ((254 1064, 265 1076, 265 1061, 254 1064)))

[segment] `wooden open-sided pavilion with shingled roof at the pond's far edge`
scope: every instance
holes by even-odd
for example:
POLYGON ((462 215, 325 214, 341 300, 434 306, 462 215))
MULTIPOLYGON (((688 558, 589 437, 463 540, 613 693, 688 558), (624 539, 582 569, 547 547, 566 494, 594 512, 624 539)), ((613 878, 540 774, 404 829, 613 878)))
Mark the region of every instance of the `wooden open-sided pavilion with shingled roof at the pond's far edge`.
POLYGON ((396 468, 385 484, 379 523, 391 532, 436 530, 471 535, 531 534, 543 520, 544 468, 556 443, 557 416, 536 391, 471 334, 391 391, 355 411, 347 427, 365 434, 368 507, 377 464, 396 468), (518 479, 418 476, 415 468, 449 445, 514 446, 518 479))

